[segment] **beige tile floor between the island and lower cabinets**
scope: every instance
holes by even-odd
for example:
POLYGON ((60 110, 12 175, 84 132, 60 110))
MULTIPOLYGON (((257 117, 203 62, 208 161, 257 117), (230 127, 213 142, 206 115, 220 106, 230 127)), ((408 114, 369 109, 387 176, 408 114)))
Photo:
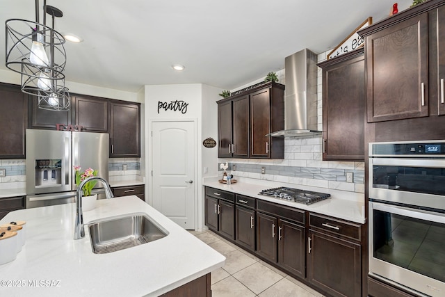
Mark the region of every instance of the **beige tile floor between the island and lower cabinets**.
POLYGON ((226 257, 225 266, 211 273, 213 297, 323 296, 214 232, 191 233, 226 257))

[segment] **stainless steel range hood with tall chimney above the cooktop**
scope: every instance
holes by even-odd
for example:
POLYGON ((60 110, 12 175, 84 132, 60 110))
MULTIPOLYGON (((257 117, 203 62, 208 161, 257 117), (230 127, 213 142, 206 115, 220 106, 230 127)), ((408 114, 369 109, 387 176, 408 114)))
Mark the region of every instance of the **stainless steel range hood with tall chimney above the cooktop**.
POLYGON ((284 130, 270 136, 307 137, 317 130, 317 55, 302 49, 285 59, 284 130))

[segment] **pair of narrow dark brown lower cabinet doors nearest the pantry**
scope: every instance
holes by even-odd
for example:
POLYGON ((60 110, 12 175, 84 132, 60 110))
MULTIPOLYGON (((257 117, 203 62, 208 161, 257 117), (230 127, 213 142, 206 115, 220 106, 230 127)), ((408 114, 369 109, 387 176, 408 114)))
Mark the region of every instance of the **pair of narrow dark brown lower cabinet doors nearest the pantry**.
POLYGON ((205 224, 228 239, 235 239, 235 204, 227 200, 205 197, 205 224))

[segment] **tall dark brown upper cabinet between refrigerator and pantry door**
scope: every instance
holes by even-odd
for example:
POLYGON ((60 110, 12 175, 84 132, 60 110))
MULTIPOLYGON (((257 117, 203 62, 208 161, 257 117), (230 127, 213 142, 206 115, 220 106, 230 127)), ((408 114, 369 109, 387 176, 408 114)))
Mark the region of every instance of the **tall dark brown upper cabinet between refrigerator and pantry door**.
POLYGON ((110 156, 140 157, 140 104, 110 102, 110 156))

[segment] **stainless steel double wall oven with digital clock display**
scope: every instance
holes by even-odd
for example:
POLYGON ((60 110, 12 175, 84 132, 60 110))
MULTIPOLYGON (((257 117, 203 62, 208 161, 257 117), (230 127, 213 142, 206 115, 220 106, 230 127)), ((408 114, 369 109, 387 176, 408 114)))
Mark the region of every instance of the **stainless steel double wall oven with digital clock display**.
POLYGON ((369 143, 369 274, 445 296, 445 140, 369 143))

